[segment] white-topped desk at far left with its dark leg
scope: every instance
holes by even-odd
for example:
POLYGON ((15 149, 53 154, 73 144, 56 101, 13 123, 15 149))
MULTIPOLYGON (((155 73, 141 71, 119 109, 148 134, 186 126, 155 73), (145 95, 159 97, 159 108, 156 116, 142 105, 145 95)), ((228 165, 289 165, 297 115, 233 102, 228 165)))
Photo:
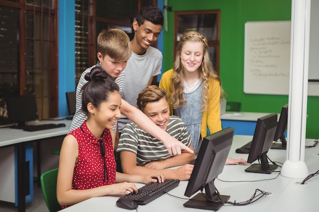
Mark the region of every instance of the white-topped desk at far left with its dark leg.
MULTIPOLYGON (((40 141, 42 139, 66 135, 69 132, 71 120, 67 120, 67 119, 41 120, 41 121, 30 122, 31 125, 47 124, 47 123, 54 123, 54 124, 64 123, 66 124, 66 127, 49 129, 49 130, 41 130, 41 131, 35 131, 35 132, 26 132, 23 130, 11 129, 11 128, 0 128, 0 147, 6 148, 6 147, 14 146, 17 149, 17 152, 16 152, 17 153, 16 154, 17 174, 14 174, 14 175, 17 176, 17 184, 16 184, 17 193, 18 193, 17 203, 18 203, 18 211, 21 211, 21 212, 25 211, 25 195, 24 194, 25 194, 25 179, 27 176, 25 176, 23 164, 25 163, 25 160, 26 160, 26 155, 25 155, 26 143, 36 141, 37 144, 40 145, 40 141)), ((32 151, 31 151, 31 156, 28 155, 28 157, 33 157, 32 151)), ((11 163, 14 164, 14 161, 11 163)), ((39 160, 38 160, 38 163, 40 163, 39 160)), ((39 164, 37 168, 38 168, 38 177, 40 177, 41 172, 40 172, 39 164)), ((31 171, 31 173, 33 178, 33 170, 31 171)), ((8 180, 10 179, 9 177, 6 178, 5 176, 4 178, 8 180)), ((31 178, 32 185, 30 185, 30 189, 33 189, 32 178, 31 178)), ((11 180, 14 180, 14 179, 11 178, 11 180)))

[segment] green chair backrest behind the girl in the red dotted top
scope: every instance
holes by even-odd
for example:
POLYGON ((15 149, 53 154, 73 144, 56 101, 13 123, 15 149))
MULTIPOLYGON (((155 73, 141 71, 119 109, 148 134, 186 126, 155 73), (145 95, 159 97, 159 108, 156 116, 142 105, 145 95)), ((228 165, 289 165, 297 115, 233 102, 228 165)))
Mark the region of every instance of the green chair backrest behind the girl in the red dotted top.
POLYGON ((42 194, 50 212, 61 210, 57 200, 58 168, 46 171, 40 176, 42 194))

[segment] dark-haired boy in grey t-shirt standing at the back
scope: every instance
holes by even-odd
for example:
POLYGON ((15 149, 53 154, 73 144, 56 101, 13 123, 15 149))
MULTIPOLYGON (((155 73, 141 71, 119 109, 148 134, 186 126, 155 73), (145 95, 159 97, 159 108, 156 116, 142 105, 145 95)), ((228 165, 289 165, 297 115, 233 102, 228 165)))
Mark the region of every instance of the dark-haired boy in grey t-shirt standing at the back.
MULTIPOLYGON (((130 41, 132 55, 116 82, 123 83, 122 90, 120 90, 122 99, 135 107, 136 98, 141 90, 152 83, 154 76, 161 73, 162 53, 151 45, 161 34, 163 22, 162 11, 149 5, 141 9, 132 23, 135 31, 134 38, 130 41)), ((119 133, 130 122, 131 120, 122 115, 118 120, 119 133)))

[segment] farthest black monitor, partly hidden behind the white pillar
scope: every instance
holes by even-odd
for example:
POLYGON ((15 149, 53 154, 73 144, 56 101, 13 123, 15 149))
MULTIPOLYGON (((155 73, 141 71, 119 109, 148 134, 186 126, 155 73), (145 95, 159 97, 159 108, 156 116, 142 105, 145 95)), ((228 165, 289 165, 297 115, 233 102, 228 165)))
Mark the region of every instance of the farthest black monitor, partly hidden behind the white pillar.
POLYGON ((288 122, 288 104, 284 105, 281 109, 279 122, 274 136, 274 141, 280 139, 281 142, 275 142, 272 145, 273 149, 286 149, 287 141, 285 137, 285 132, 287 131, 288 122))

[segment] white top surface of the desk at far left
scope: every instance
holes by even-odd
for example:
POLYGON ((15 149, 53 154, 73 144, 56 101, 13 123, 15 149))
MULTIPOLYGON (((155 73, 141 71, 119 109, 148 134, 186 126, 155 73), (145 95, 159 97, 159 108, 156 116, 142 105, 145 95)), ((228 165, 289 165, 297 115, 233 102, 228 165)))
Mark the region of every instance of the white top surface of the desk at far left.
POLYGON ((40 130, 35 132, 27 132, 18 129, 11 128, 0 128, 0 147, 8 146, 16 143, 33 141, 43 138, 55 137, 60 135, 66 135, 69 132, 71 120, 41 120, 30 122, 30 125, 41 125, 41 124, 60 124, 64 123, 66 126, 61 128, 49 129, 49 130, 40 130))

